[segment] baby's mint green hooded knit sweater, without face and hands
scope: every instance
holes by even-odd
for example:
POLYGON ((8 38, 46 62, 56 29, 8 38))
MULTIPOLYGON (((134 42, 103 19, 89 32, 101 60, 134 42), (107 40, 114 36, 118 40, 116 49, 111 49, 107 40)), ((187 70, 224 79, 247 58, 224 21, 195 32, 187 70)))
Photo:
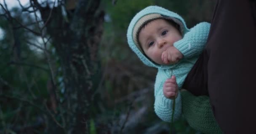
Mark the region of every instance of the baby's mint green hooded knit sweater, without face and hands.
MULTIPOLYGON (((171 115, 173 113, 173 100, 165 98, 163 95, 163 85, 165 80, 171 77, 171 71, 173 71, 173 75, 176 76, 176 81, 179 86, 179 89, 182 87, 187 74, 195 64, 197 58, 199 57, 200 53, 205 47, 208 33, 210 29, 210 24, 206 22, 202 22, 194 26, 193 28, 189 29, 186 26, 183 18, 180 15, 173 13, 169 10, 158 6, 149 6, 139 13, 137 13, 127 31, 127 39, 128 44, 137 54, 137 56, 141 59, 141 61, 149 67, 155 67, 158 69, 156 80, 155 80, 155 113, 157 116, 162 119, 163 121, 171 122, 171 115), (132 32, 133 28, 137 21, 141 17, 151 13, 158 13, 161 15, 165 15, 168 17, 175 18, 179 20, 183 24, 183 31, 182 36, 183 38, 173 44, 183 55, 184 58, 181 59, 177 64, 174 65, 159 65, 152 62, 148 59, 135 45, 132 32)), ((181 116, 181 95, 178 93, 178 96, 175 101, 175 110, 173 121, 176 121, 181 116)))

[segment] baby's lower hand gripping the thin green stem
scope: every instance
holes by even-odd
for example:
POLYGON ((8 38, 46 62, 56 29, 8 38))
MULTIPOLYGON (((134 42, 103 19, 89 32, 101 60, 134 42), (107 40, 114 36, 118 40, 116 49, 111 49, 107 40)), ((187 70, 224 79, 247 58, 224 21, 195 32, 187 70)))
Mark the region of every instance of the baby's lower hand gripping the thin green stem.
POLYGON ((170 79, 167 79, 163 85, 163 95, 166 98, 174 99, 178 95, 178 85, 176 82, 176 77, 172 76, 170 79))

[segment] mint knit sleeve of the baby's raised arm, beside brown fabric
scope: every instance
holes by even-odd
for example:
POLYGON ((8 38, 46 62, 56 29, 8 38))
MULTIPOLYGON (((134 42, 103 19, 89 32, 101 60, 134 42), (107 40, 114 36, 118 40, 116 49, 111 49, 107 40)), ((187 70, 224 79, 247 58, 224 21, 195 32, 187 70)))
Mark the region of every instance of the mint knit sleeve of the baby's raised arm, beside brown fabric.
POLYGON ((175 46, 185 58, 201 54, 208 39, 210 26, 211 24, 207 22, 198 23, 191 28, 181 40, 175 42, 173 46, 175 46))

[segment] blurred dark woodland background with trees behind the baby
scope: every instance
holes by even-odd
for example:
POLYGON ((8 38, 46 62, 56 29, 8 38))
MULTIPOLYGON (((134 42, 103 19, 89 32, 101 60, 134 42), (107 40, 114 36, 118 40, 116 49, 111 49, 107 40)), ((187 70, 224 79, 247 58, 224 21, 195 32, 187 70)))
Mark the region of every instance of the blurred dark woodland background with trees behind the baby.
POLYGON ((154 112, 157 70, 128 47, 149 5, 211 22, 214 0, 0 0, 0 134, 201 134, 154 112))

